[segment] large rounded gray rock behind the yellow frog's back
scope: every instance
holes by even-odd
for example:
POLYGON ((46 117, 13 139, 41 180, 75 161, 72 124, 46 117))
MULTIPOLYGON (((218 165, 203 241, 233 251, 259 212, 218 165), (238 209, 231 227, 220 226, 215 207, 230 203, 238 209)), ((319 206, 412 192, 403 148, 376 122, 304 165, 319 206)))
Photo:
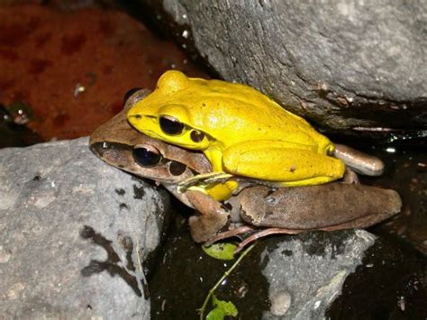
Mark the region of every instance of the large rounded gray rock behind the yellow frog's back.
POLYGON ((257 87, 318 125, 427 135, 426 2, 144 3, 222 78, 257 87))

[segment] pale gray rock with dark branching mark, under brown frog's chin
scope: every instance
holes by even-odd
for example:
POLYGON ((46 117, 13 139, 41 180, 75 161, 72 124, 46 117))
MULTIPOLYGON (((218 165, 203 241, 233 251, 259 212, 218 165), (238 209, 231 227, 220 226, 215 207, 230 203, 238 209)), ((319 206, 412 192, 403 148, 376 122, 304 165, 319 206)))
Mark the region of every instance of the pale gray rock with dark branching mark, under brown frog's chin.
POLYGON ((168 198, 87 139, 0 151, 0 315, 149 318, 140 261, 168 198))

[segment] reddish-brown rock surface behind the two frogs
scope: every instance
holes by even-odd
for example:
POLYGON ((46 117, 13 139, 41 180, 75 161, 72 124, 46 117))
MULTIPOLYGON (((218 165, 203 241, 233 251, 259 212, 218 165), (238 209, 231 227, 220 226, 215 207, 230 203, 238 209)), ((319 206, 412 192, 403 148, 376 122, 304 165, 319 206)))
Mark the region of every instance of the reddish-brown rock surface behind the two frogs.
POLYGON ((122 109, 127 90, 152 88, 172 68, 206 77, 121 12, 0 7, 0 103, 31 105, 29 126, 46 140, 91 133, 122 109))

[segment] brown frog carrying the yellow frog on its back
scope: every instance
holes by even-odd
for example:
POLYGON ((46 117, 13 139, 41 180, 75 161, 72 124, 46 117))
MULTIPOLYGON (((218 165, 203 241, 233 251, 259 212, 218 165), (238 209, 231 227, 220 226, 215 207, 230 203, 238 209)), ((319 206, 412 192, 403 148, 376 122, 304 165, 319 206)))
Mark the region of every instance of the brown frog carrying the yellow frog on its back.
MULTIPOLYGON (((322 186, 273 189, 246 184, 225 206, 201 192, 179 194, 176 185, 195 173, 211 172, 209 161, 201 152, 187 151, 166 142, 151 139, 134 130, 126 121, 127 105, 141 99, 146 91, 133 94, 125 109, 104 123, 91 135, 90 148, 106 163, 143 178, 159 181, 187 206, 199 214, 190 217, 190 231, 195 242, 211 240, 230 222, 244 222, 268 227, 259 234, 301 233, 309 230, 365 228, 377 224, 400 211, 400 197, 394 190, 334 182, 322 186), (142 167, 133 158, 138 146, 156 148, 163 160, 153 167, 142 167), (185 166, 179 175, 171 173, 171 164, 185 166)), ((227 236, 238 234, 226 233, 227 236)), ((248 228, 245 229, 248 231, 248 228)), ((218 237, 220 239, 221 236, 218 237)), ((255 235, 252 239, 256 239, 255 235)))

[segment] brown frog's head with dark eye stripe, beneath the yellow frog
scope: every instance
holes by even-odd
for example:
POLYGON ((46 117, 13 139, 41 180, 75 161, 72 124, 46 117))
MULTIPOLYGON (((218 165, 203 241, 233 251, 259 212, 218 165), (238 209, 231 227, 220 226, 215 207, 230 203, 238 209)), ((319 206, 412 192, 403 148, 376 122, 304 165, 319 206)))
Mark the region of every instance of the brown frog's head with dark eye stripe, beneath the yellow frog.
POLYGON ((143 178, 176 184, 195 173, 211 171, 203 153, 186 151, 137 132, 126 120, 126 111, 135 100, 149 92, 130 96, 123 111, 98 127, 90 136, 90 149, 106 163, 143 178))

